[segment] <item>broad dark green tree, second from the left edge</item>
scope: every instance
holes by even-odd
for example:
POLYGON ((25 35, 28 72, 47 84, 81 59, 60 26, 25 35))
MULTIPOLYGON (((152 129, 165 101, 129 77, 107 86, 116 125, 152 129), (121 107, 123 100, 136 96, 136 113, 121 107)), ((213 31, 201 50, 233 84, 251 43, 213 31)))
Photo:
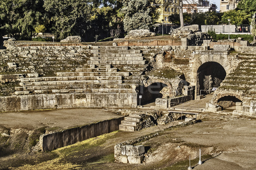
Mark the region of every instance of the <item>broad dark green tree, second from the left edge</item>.
POLYGON ((44 8, 51 18, 52 31, 57 39, 72 35, 85 37, 98 6, 99 2, 93 0, 44 0, 44 8))

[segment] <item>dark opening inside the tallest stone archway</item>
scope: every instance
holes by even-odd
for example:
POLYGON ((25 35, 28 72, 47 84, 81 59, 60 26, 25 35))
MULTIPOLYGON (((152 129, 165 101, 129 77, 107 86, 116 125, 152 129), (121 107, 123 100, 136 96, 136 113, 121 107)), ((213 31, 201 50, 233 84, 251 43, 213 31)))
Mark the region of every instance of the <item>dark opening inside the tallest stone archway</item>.
POLYGON ((209 90, 218 88, 226 77, 225 69, 218 62, 205 62, 197 73, 201 94, 209 94, 209 90))

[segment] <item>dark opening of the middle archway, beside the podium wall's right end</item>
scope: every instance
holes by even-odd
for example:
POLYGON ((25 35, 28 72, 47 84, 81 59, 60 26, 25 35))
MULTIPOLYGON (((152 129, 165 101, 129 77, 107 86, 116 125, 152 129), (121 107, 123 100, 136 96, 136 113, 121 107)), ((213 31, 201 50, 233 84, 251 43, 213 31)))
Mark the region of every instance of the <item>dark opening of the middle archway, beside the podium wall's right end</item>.
POLYGON ((157 98, 162 98, 163 94, 160 94, 160 91, 166 86, 166 84, 160 82, 152 83, 148 87, 140 85, 138 87, 137 105, 146 105, 155 102, 157 98), (142 97, 141 100, 140 96, 142 97))

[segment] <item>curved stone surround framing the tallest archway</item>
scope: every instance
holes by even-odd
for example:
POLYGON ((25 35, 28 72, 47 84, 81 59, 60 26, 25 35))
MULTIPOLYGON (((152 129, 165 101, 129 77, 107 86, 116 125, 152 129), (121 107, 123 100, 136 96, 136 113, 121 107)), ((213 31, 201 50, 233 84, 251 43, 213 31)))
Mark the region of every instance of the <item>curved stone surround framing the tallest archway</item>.
POLYGON ((229 74, 231 70, 230 62, 227 59, 227 55, 224 55, 224 54, 218 54, 218 55, 204 54, 198 57, 197 59, 195 59, 192 65, 192 74, 191 74, 191 85, 195 85, 195 97, 200 94, 199 82, 198 82, 198 69, 201 65, 203 65, 206 62, 217 62, 224 68, 224 70, 226 71, 226 74, 229 74))

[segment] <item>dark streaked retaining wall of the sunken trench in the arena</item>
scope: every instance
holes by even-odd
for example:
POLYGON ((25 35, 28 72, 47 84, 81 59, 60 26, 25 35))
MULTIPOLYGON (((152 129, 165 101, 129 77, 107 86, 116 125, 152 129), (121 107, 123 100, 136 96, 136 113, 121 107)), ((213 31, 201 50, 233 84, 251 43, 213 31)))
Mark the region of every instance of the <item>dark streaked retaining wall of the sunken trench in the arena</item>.
POLYGON ((41 150, 51 151, 59 147, 64 147, 105 133, 113 132, 119 129, 119 125, 123 119, 124 117, 119 117, 82 127, 63 130, 62 132, 41 135, 41 150))

